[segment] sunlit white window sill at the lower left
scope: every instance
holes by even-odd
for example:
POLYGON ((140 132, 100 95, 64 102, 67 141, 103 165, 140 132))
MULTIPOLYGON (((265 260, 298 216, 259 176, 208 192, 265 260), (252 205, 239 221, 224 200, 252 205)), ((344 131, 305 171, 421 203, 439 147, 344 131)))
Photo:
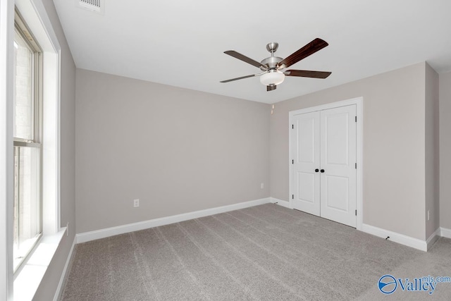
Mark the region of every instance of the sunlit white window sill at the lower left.
POLYGON ((35 296, 64 233, 66 233, 66 227, 61 228, 58 233, 42 237, 35 252, 14 280, 14 300, 32 300, 35 296))

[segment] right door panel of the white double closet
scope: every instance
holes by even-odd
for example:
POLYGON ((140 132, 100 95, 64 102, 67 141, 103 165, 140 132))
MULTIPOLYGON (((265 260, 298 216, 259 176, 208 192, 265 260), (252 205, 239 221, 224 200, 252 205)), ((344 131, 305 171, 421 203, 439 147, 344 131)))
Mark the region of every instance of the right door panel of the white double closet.
POLYGON ((356 106, 321 111, 321 217, 356 226, 356 106))

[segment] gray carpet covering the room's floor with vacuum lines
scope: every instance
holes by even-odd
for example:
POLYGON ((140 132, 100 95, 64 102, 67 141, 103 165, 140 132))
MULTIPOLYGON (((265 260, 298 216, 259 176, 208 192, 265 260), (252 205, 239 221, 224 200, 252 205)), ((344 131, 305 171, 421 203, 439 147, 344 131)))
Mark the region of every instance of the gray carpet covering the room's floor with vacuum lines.
POLYGON ((264 204, 76 245, 61 300, 451 300, 384 295, 385 274, 451 276, 451 240, 421 252, 264 204))

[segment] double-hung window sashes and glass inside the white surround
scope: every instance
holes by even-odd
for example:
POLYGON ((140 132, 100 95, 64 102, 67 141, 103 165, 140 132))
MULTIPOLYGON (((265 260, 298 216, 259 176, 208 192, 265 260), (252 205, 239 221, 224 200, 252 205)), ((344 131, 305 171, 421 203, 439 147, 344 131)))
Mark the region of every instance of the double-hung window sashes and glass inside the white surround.
POLYGON ((14 271, 42 235, 42 51, 16 11, 14 34, 14 271))

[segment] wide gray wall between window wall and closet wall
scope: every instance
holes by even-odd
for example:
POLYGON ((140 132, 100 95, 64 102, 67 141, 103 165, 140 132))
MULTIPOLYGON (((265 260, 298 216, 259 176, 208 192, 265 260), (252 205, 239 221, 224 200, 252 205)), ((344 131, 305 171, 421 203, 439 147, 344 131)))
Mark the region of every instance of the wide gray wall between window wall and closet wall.
POLYGON ((77 69, 77 233, 269 197, 270 111, 77 69))

